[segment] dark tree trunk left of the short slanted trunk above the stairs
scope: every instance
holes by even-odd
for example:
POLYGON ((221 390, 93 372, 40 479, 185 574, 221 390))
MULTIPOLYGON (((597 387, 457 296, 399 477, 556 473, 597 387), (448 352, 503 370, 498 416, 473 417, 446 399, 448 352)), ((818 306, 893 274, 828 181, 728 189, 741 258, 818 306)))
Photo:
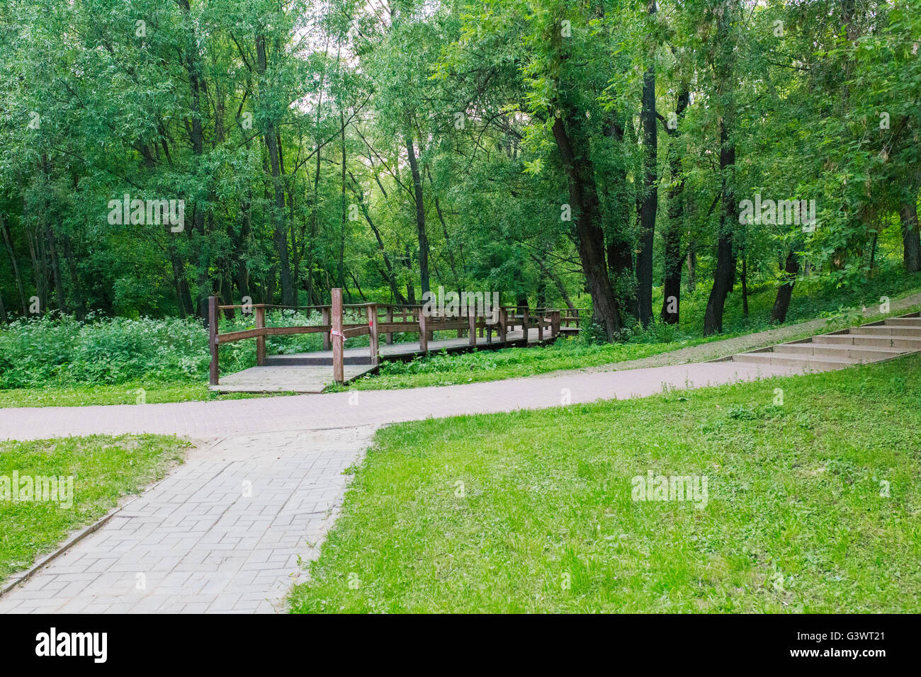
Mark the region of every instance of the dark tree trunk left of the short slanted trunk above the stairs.
POLYGON ((722 218, 717 241, 717 268, 713 274, 713 288, 706 302, 704 314, 704 335, 723 331, 723 306, 732 289, 735 278, 736 259, 732 251, 732 233, 738 227, 736 216, 735 178, 729 172, 736 163, 736 148, 729 144, 729 132, 725 120, 719 125, 719 169, 722 175, 722 218))

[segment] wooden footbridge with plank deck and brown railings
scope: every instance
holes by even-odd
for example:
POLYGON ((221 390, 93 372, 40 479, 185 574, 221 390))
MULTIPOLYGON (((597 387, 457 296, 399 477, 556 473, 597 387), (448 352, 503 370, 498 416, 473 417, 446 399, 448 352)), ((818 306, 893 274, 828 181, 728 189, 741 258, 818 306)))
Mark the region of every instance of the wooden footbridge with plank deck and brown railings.
POLYGON ((222 306, 217 297, 211 297, 208 299, 210 389, 220 392, 321 392, 332 383, 344 384, 377 370, 382 360, 411 360, 430 352, 459 353, 549 344, 561 334, 578 333, 586 313, 585 309, 499 306, 493 317, 478 315, 474 308, 467 309, 466 317, 438 316, 423 312, 421 304, 346 305, 340 288, 332 290, 329 306, 222 306), (235 314, 238 310, 249 309, 255 321, 252 329, 218 333, 221 311, 235 314), (266 309, 319 311, 321 324, 266 326, 266 309), (436 340, 436 332, 457 334, 456 338, 436 340), (295 355, 266 355, 266 336, 297 333, 321 333, 323 349, 295 355), (416 333, 419 340, 394 344, 394 333, 416 333), (381 334, 383 345, 379 342, 381 334), (367 347, 345 347, 347 339, 365 335, 368 336, 367 347), (257 366, 219 379, 219 346, 248 339, 255 339, 257 366))

